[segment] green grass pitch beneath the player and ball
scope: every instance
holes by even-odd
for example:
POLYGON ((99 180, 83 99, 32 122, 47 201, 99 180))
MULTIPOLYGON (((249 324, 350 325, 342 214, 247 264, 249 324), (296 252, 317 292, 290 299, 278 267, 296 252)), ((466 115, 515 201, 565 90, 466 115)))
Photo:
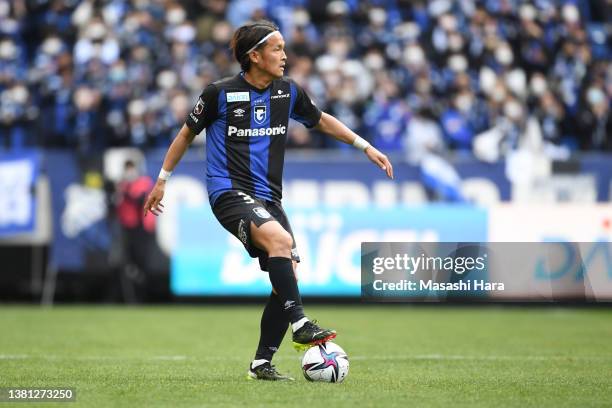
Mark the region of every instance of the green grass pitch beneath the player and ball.
POLYGON ((307 382, 289 335, 275 363, 296 381, 247 381, 261 309, 0 306, 0 387, 74 387, 68 407, 612 406, 610 309, 307 305, 349 354, 342 384, 307 382))

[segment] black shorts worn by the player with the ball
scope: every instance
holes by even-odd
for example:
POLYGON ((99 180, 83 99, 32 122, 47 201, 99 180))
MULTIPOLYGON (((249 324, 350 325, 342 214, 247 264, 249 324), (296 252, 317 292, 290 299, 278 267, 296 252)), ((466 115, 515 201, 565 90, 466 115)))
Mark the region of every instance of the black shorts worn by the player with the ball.
POLYGON ((242 191, 232 190, 221 194, 215 201, 212 210, 223 228, 242 242, 251 258, 259 258, 261 270, 268 270, 268 254, 251 242, 251 221, 258 228, 268 221, 278 221, 293 238, 291 259, 300 262, 291 225, 280 204, 260 200, 242 191))

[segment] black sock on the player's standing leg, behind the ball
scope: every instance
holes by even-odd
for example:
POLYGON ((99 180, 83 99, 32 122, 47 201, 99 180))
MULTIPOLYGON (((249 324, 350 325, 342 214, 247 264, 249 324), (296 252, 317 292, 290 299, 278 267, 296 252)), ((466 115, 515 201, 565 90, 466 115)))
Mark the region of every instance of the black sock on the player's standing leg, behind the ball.
POLYGON ((268 303, 261 315, 261 333, 255 360, 272 360, 289 327, 289 317, 283 310, 280 299, 274 292, 270 293, 268 303))

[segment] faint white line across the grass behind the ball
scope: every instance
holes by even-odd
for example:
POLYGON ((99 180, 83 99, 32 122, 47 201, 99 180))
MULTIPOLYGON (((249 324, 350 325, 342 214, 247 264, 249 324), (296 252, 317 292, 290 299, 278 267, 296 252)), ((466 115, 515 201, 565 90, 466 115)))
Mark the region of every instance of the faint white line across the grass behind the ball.
MULTIPOLYGON (((77 360, 77 361, 245 361, 244 357, 240 356, 64 356, 64 355, 28 355, 28 354, 0 354, 0 360, 77 360)), ((301 354, 295 357, 276 356, 275 360, 299 360, 301 354)), ((248 360, 248 357, 246 358, 248 360)), ((612 361, 610 356, 468 356, 468 355, 442 355, 442 354, 421 354, 421 355, 396 355, 396 356, 351 356, 351 361, 414 361, 414 360, 465 360, 465 361, 558 361, 558 360, 575 360, 575 361, 612 361)))

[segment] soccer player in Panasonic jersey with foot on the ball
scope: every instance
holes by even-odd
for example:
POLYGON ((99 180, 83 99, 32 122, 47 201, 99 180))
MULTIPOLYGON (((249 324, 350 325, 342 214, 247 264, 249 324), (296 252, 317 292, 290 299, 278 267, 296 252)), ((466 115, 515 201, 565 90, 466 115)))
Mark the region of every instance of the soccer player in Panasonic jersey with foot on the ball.
POLYGON ((221 225, 235 235, 267 271, 272 293, 261 317, 261 332, 248 378, 292 380, 271 365, 287 327, 300 349, 336 337, 304 314, 295 275, 299 255, 281 207, 281 183, 289 118, 360 149, 393 178, 387 157, 339 120, 321 112, 306 92, 283 77, 287 56, 273 23, 240 27, 231 48, 242 72, 208 85, 173 140, 145 206, 159 215, 164 187, 193 138, 206 129, 206 184, 221 225))

